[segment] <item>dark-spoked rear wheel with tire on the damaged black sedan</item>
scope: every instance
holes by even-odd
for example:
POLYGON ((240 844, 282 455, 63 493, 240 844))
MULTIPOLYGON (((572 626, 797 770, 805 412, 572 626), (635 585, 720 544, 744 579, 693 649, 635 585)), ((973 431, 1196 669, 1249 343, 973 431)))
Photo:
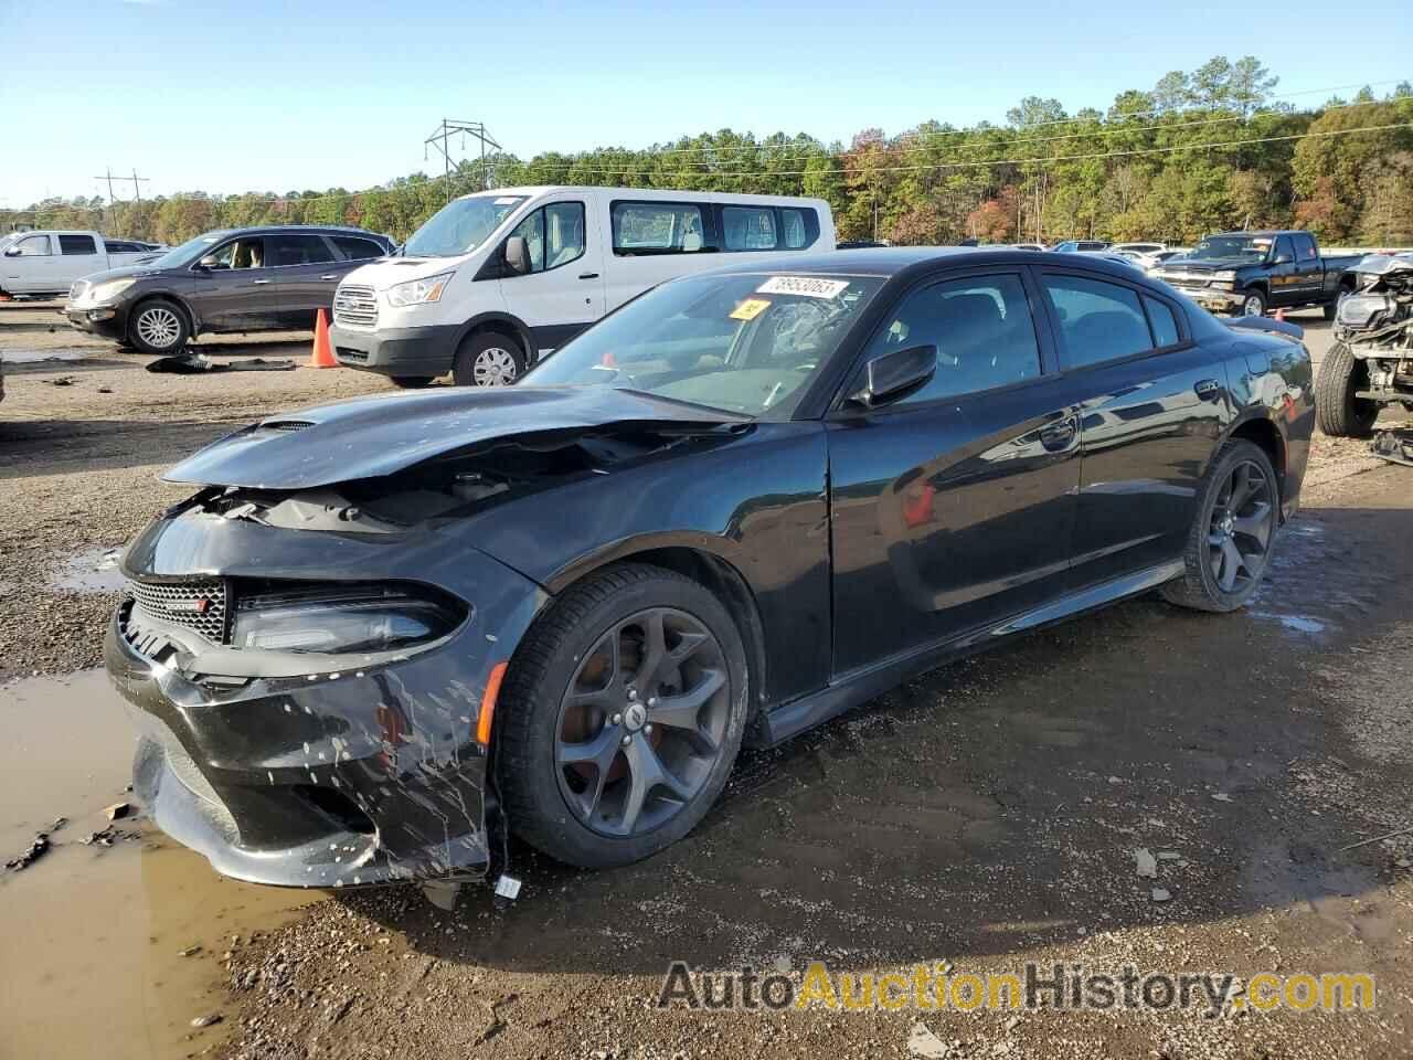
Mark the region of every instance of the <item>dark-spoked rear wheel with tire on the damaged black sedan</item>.
POLYGON ((1280 488, 1266 451, 1236 440, 1212 461, 1183 551, 1181 578, 1163 587, 1195 611, 1236 611, 1260 587, 1280 513, 1280 488))

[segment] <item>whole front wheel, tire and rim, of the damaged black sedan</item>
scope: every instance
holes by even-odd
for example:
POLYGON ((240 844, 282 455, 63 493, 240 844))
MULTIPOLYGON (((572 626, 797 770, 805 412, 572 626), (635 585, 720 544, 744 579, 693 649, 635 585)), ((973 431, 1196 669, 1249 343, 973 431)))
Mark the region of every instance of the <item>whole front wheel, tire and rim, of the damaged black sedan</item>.
POLYGON ((591 575, 510 663, 495 736, 510 827, 582 868, 668 847, 726 783, 746 687, 740 633, 704 585, 646 564, 591 575))

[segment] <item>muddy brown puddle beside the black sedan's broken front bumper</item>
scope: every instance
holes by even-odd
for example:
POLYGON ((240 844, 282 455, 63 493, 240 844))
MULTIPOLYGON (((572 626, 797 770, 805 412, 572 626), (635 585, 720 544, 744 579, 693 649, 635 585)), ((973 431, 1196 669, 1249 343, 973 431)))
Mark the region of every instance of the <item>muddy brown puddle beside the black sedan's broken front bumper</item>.
POLYGON ((278 927, 322 895, 223 879, 140 821, 114 825, 133 840, 79 842, 129 797, 134 738, 102 671, 0 687, 0 724, 4 859, 69 818, 48 854, 0 873, 0 1056, 174 1060, 216 1042, 229 1025, 189 1023, 223 1009, 230 936, 278 927))

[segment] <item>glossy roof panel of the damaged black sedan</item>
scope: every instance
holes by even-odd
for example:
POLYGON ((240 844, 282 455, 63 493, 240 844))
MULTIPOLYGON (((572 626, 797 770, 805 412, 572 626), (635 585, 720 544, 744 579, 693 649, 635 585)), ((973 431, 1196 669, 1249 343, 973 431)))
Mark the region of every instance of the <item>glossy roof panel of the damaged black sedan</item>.
POLYGON ((722 273, 841 273, 892 278, 903 273, 923 273, 952 264, 1017 266, 1037 264, 1051 269, 1091 269, 1133 280, 1137 273, 1092 254, 1054 254, 1048 250, 1019 250, 1012 246, 907 246, 828 250, 818 254, 771 254, 712 270, 722 273))

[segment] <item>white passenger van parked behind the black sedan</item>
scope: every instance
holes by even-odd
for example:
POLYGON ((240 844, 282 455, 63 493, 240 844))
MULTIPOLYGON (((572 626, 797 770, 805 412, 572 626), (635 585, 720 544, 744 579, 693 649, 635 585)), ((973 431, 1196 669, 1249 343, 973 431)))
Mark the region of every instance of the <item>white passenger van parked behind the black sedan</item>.
MULTIPOLYGON (((822 199, 502 188, 447 204, 333 295, 339 363, 406 387, 504 386, 649 287, 728 254, 834 249, 822 199)), ((733 257, 731 260, 735 260, 733 257)))

